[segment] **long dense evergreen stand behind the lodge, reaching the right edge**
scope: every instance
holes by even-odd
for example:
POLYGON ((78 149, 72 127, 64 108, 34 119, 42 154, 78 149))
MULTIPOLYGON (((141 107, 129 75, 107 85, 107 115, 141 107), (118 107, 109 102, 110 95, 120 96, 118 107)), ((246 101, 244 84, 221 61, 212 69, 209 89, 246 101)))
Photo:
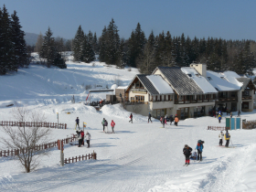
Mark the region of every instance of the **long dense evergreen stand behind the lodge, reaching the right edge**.
POLYGON ((140 23, 125 40, 120 38, 113 19, 108 27, 103 28, 99 38, 96 33, 92 37, 91 31, 88 36, 84 35, 79 27, 72 41, 72 51, 77 61, 90 62, 94 52, 99 54, 101 62, 121 68, 128 65, 142 73, 151 73, 157 66, 188 67, 195 62, 206 63, 210 70, 229 69, 239 74, 251 74, 256 65, 256 43, 252 40, 191 39, 184 34, 172 37, 169 31, 157 36, 152 31, 149 37, 145 37, 140 23), (85 52, 86 56, 83 55, 85 52))

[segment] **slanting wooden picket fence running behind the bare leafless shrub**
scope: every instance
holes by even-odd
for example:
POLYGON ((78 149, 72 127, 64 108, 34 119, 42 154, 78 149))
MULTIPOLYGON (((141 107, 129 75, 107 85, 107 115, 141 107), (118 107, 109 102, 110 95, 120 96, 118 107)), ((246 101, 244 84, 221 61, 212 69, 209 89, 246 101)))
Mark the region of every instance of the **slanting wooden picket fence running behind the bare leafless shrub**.
MULTIPOLYGON (((63 141, 63 144, 69 144, 70 142, 74 142, 76 141, 76 137, 75 136, 71 136, 71 137, 68 137, 66 139, 62 139, 63 141)), ((55 147, 55 146, 58 146, 58 141, 56 142, 51 142, 51 143, 48 143, 48 144, 39 144, 37 146, 35 146, 35 148, 33 149, 33 152, 37 152, 37 151, 40 151, 40 150, 46 150, 48 148, 52 148, 52 147, 55 147)), ((4 150, 4 151, 0 151, 0 157, 2 156, 15 156, 15 155, 19 155, 20 153, 24 153, 26 154, 27 153, 27 148, 23 148, 23 149, 11 149, 11 150, 4 150)))

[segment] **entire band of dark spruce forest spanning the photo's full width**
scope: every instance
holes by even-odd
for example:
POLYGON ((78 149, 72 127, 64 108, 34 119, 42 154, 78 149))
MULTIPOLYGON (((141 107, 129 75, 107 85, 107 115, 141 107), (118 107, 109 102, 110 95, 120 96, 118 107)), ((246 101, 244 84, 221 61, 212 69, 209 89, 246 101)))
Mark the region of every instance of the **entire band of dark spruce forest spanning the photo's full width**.
POLYGON ((163 31, 155 35, 152 31, 145 37, 137 24, 128 39, 121 38, 114 20, 102 29, 101 37, 89 31, 84 33, 81 26, 71 40, 52 37, 48 27, 45 36, 37 38, 34 47, 26 46, 25 33, 21 30, 16 11, 11 16, 7 9, 0 8, 0 74, 17 71, 31 62, 30 53, 37 51, 41 64, 48 68, 57 66, 66 69, 64 51, 73 51, 74 60, 90 63, 99 56, 101 62, 140 69, 151 73, 158 66, 188 67, 191 63, 206 63, 209 70, 233 70, 238 74, 252 74, 255 68, 256 42, 250 39, 232 40, 208 37, 172 37, 163 31))

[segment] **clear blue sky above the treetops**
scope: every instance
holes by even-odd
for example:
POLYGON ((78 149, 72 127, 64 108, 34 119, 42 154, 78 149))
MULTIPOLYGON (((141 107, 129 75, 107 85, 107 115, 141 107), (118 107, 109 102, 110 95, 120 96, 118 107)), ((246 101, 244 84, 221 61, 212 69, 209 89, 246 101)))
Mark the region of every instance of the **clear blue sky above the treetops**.
POLYGON ((139 22, 146 37, 153 30, 172 36, 256 40, 255 0, 0 0, 14 10, 25 32, 72 38, 81 25, 101 36, 113 18, 120 37, 130 37, 139 22))

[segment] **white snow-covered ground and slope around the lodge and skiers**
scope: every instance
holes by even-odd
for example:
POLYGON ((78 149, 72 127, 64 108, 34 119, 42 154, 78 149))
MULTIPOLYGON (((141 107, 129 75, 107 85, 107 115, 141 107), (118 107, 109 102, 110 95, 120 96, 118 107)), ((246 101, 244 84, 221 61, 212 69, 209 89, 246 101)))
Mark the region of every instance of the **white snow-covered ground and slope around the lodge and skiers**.
MULTIPOLYGON (((85 132, 91 133, 91 147, 65 144, 64 156, 97 153, 97 160, 61 167, 55 147, 29 174, 18 161, 0 157, 0 191, 256 191, 256 130, 230 131, 231 148, 219 147, 219 131, 207 130, 208 125, 225 126, 226 114, 221 123, 214 117, 201 117, 180 121, 178 126, 168 123, 164 129, 159 121, 147 123, 147 117, 135 113, 133 123, 128 123, 130 112, 121 104, 105 105, 99 112, 83 103, 88 91, 80 85, 82 82, 111 86, 115 75, 123 73, 125 86, 137 72, 100 62, 92 67, 69 60, 68 69, 32 65, 0 76, 0 122, 14 120, 15 106, 6 104, 15 101, 27 105, 28 110, 44 113, 51 123, 57 122, 59 112, 59 122, 67 123, 68 129, 51 129, 50 141, 56 141, 75 133, 75 119, 79 117, 80 126, 87 123, 85 132), (70 101, 72 95, 75 103, 70 101), (116 123, 115 133, 110 126, 108 133, 102 132, 103 118, 116 123), (205 141, 203 161, 191 160, 190 165, 183 166, 184 145, 194 150, 199 139, 205 141)), ((104 99, 105 94, 95 93, 93 99, 104 99)), ((255 120, 255 111, 242 112, 241 118, 255 120)), ((0 135, 6 138, 2 131, 0 135)), ((3 144, 0 148, 5 149, 3 144)))

